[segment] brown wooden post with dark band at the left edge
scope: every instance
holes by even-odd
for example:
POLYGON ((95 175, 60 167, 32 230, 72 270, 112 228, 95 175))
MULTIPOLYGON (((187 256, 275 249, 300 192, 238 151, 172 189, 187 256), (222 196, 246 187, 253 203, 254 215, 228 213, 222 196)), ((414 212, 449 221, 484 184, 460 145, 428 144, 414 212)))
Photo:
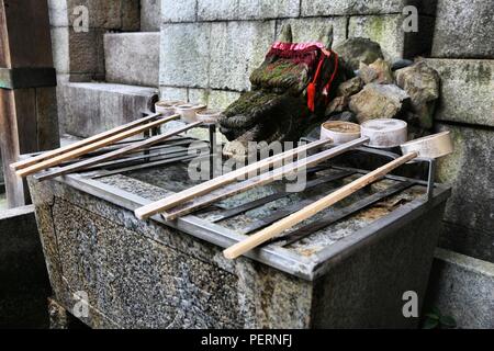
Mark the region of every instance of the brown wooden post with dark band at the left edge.
POLYGON ((0 150, 9 207, 29 202, 9 165, 59 145, 46 0, 0 0, 0 150))

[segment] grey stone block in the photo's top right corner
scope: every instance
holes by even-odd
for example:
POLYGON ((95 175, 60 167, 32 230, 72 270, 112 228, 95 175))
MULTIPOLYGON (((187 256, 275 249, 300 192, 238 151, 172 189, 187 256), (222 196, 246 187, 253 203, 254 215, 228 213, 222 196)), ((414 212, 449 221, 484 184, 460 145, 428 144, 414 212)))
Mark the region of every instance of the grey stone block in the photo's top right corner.
POLYGON ((433 57, 492 58, 494 7, 484 0, 438 0, 433 57))

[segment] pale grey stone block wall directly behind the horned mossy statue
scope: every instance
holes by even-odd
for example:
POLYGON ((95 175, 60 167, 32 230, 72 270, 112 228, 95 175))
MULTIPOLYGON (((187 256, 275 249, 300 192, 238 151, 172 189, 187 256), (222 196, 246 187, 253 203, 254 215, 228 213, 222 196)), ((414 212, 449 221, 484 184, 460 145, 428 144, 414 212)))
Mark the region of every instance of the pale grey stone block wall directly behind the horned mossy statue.
POLYGON ((250 88, 284 23, 296 42, 317 41, 333 24, 335 45, 370 37, 397 59, 430 50, 434 15, 435 1, 422 0, 161 0, 161 98, 227 106, 250 88), (418 9, 418 33, 402 30, 408 4, 418 9))

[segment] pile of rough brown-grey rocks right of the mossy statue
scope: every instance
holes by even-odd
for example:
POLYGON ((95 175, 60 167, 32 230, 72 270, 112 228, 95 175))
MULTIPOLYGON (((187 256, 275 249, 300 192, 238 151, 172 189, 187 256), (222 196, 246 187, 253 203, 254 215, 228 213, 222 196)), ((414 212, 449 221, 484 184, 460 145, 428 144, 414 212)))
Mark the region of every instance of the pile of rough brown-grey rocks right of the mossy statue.
POLYGON ((420 59, 384 60, 381 47, 367 38, 351 38, 335 47, 350 79, 337 89, 326 115, 330 120, 363 123, 373 118, 401 118, 411 138, 433 127, 439 98, 439 73, 420 59))

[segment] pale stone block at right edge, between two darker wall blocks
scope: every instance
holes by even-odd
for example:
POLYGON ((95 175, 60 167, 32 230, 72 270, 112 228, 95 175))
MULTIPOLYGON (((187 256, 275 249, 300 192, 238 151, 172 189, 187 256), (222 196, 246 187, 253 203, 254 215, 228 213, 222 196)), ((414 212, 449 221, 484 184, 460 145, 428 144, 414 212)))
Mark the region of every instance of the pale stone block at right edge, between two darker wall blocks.
POLYGON ((436 120, 494 126, 494 60, 426 59, 441 79, 436 120))

